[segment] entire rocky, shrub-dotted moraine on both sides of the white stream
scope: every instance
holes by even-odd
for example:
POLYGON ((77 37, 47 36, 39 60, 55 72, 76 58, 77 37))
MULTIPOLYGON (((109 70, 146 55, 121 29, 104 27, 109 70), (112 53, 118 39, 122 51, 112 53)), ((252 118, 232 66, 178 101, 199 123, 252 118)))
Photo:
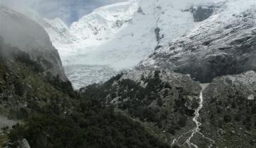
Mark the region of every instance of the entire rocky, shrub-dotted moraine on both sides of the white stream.
POLYGON ((131 70, 80 94, 128 113, 172 147, 255 147, 255 81, 255 71, 214 78, 200 96, 188 76, 131 70))

